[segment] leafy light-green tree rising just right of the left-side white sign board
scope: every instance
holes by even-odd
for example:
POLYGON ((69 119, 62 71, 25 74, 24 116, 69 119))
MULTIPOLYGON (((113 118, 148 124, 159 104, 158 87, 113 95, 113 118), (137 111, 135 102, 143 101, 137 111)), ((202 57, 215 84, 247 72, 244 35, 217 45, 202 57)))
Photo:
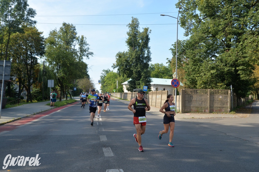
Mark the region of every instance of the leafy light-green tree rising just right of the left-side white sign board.
POLYGON ((86 38, 76 35, 75 26, 64 22, 59 31, 50 31, 46 39, 46 61, 60 88, 60 101, 63 93, 73 87, 74 80, 88 76, 87 64, 82 60, 89 59, 93 53, 89 51, 86 38))

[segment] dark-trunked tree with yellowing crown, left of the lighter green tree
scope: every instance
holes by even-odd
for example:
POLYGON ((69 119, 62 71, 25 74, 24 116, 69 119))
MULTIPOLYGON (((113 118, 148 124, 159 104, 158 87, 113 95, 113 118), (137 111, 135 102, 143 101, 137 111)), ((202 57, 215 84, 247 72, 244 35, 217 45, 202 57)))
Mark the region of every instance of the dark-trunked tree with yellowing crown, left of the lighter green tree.
POLYGON ((12 75, 19 83, 19 95, 23 86, 27 91, 27 102, 32 102, 31 86, 37 81, 39 63, 37 56, 44 54, 44 38, 35 27, 23 27, 24 33, 11 36, 10 57, 12 75))

